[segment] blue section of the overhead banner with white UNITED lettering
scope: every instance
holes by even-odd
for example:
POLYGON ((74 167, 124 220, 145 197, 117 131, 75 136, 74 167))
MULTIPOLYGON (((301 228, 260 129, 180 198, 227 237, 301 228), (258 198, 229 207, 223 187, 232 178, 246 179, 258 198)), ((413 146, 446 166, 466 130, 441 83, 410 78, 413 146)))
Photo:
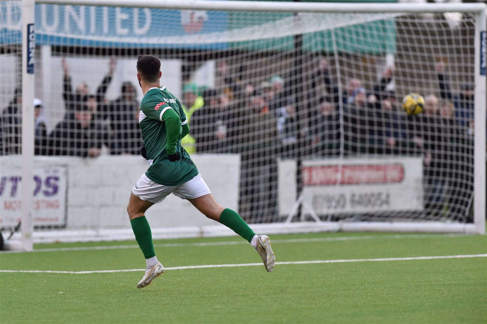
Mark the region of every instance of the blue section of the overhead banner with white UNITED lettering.
MULTIPOLYGON (((19 44, 19 6, 0 2, 0 44, 19 44)), ((228 18, 217 11, 36 4, 35 27, 37 45, 214 49, 227 45, 204 35, 227 30, 228 18)))

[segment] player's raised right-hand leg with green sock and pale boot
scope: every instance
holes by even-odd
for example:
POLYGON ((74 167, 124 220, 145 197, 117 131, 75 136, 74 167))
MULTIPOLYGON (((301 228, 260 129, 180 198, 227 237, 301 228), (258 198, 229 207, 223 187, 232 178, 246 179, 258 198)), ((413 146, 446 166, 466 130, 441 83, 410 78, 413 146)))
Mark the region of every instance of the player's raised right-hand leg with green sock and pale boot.
POLYGON ((222 207, 215 201, 212 194, 188 200, 206 217, 222 223, 246 239, 261 256, 265 270, 268 272, 274 270, 276 256, 267 235, 256 235, 237 212, 222 207))

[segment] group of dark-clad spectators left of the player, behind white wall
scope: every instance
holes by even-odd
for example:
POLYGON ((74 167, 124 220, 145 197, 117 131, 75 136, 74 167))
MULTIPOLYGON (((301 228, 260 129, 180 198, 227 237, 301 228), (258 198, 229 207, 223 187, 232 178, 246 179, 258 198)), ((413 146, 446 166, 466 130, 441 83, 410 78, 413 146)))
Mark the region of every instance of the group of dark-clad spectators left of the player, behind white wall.
MULTIPOLYGON (((112 82, 116 60, 111 59, 109 71, 96 89, 90 93, 85 82, 73 90, 69 65, 62 59, 64 118, 47 132, 43 110, 39 99, 34 99, 35 107, 35 154, 79 157, 97 157, 102 147, 110 154, 139 154, 142 134, 139 128, 139 103, 130 82, 122 83, 120 96, 112 101, 105 97, 112 82)), ((1 116, 1 154, 20 152, 20 109, 21 89, 17 89, 9 106, 1 116)))

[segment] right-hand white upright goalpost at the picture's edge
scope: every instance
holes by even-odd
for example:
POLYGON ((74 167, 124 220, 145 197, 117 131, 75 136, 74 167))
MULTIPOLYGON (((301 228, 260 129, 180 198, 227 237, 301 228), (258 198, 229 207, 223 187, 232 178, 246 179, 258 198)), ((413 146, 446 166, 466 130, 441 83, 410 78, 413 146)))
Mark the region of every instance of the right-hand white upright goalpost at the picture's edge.
POLYGON ((474 216, 476 232, 486 233, 486 11, 475 15, 474 216))

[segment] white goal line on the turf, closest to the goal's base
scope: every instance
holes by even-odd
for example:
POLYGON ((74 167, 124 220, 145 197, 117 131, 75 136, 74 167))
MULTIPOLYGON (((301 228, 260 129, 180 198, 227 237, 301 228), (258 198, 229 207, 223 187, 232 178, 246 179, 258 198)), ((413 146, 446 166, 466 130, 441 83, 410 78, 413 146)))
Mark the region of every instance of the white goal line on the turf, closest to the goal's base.
MULTIPOLYGON (((308 242, 333 242, 333 241, 356 241, 369 239, 400 239, 400 238, 431 238, 431 237, 458 237, 470 236, 468 234, 394 234, 394 235, 363 235, 363 236, 338 236, 338 237, 317 237, 317 238, 291 238, 282 240, 272 240, 273 243, 308 243, 308 242)), ((225 245, 245 245, 244 240, 224 241, 224 242, 200 242, 200 243, 162 243, 154 244, 154 248, 180 248, 180 247, 205 247, 205 246, 225 246, 225 245)), ((87 246, 77 248, 51 248, 37 249, 31 252, 26 251, 0 251, 3 253, 35 253, 35 252, 65 252, 65 251, 92 251, 92 250, 123 250, 138 249, 138 245, 106 245, 106 246, 87 246)))

